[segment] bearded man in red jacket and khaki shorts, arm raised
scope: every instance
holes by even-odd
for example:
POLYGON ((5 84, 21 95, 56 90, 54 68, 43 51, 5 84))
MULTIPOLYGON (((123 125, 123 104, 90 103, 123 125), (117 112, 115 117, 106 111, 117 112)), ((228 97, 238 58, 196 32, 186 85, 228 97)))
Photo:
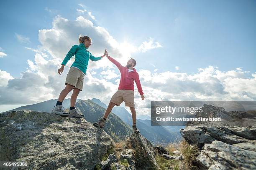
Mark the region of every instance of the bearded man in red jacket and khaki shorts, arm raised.
POLYGON ((141 99, 144 100, 145 97, 143 95, 143 90, 141 88, 141 82, 139 79, 138 72, 136 72, 135 68, 133 68, 136 65, 136 60, 131 58, 130 60, 128 60, 126 67, 123 67, 118 61, 110 57, 108 55, 108 52, 107 52, 107 57, 120 70, 121 79, 120 79, 118 91, 115 92, 115 94, 111 98, 108 108, 105 111, 105 115, 98 122, 95 122, 93 125, 99 128, 104 128, 105 121, 108 115, 110 114, 112 108, 115 105, 120 106, 120 104, 124 101, 125 106, 130 107, 130 110, 132 112, 133 133, 136 133, 136 134, 140 133, 140 131, 136 126, 136 110, 134 107, 134 85, 133 85, 134 81, 136 82, 138 92, 141 95, 141 99))

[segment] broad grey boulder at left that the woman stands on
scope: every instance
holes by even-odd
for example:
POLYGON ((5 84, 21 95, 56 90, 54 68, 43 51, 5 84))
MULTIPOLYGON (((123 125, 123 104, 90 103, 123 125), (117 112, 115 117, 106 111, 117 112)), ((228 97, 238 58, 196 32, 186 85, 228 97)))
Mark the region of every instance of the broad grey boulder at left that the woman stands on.
POLYGON ((20 110, 0 114, 0 160, 20 169, 94 169, 114 141, 84 118, 20 110))

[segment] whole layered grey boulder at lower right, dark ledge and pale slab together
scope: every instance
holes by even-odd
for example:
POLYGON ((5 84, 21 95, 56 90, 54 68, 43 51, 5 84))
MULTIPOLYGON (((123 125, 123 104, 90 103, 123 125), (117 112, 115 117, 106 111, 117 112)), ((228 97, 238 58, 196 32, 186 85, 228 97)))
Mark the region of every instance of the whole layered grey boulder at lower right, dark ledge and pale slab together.
POLYGON ((196 145, 200 170, 256 169, 255 126, 188 126, 180 130, 196 145))

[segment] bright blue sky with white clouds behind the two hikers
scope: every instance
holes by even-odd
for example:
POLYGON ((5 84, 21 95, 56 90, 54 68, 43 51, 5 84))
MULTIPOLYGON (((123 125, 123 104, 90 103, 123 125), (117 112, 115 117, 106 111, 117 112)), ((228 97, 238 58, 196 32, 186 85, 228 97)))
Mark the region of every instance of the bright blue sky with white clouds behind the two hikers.
MULTIPOLYGON (((145 100, 256 100, 256 1, 1 1, 0 112, 56 99, 79 35, 89 51, 125 65, 137 61, 145 100)), ((107 58, 89 61, 79 98, 108 104, 119 70, 107 58)), ((67 97, 70 97, 69 94, 67 97)))

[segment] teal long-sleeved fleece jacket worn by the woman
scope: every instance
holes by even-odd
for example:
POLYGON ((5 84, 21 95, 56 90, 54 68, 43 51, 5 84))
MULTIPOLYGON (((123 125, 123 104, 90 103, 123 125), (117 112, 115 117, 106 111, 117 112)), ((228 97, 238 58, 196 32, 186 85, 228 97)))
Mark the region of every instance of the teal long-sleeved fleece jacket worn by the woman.
POLYGON ((77 67, 82 72, 84 72, 84 74, 86 74, 89 58, 92 61, 97 61, 101 59, 101 57, 94 57, 89 51, 87 51, 87 48, 88 47, 84 47, 83 43, 72 46, 61 65, 66 65, 70 58, 75 55, 75 61, 73 62, 71 67, 77 67))

